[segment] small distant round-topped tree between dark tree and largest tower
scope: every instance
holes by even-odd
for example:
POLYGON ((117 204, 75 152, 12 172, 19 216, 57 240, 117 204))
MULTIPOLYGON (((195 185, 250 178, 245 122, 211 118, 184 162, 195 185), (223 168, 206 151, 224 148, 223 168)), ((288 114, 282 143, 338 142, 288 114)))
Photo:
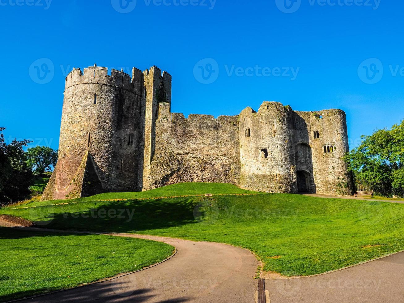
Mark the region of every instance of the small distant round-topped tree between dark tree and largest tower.
POLYGON ((50 166, 57 162, 57 150, 46 146, 36 146, 27 149, 28 165, 38 175, 43 174, 50 166))

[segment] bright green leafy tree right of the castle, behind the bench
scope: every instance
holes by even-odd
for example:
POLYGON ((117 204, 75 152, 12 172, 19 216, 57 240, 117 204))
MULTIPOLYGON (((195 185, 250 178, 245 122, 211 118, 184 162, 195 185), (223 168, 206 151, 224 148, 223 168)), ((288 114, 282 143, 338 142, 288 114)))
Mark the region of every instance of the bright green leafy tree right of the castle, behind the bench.
POLYGON ((403 196, 404 120, 361 138, 361 144, 345 157, 355 180, 385 196, 403 196))

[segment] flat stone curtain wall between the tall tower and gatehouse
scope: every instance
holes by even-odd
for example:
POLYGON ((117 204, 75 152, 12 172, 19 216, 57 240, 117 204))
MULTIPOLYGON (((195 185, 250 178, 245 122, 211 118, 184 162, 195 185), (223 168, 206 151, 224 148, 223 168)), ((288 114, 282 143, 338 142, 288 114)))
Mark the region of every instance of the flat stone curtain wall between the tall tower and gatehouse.
POLYGON ((160 112, 149 188, 180 182, 238 184, 238 116, 160 112))

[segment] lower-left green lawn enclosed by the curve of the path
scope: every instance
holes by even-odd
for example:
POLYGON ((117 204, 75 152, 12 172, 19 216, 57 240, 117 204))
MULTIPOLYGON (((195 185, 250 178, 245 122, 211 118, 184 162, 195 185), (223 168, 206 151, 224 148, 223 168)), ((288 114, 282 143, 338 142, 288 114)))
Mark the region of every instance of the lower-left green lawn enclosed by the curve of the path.
POLYGON ((158 263, 173 247, 103 235, 0 227, 0 301, 94 282, 158 263))

